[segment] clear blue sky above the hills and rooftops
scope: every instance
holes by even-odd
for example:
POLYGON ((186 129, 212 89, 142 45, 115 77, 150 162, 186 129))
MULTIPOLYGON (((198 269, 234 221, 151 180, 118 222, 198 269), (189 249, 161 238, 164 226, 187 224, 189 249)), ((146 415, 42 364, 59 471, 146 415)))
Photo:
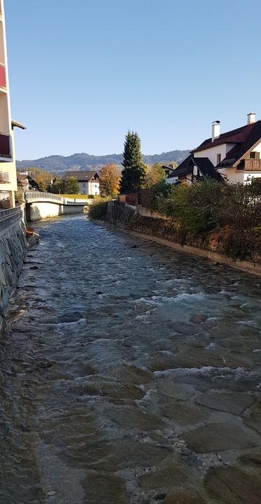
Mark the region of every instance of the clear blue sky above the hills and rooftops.
POLYGON ((260 0, 5 0, 17 158, 193 148, 261 118, 260 0))

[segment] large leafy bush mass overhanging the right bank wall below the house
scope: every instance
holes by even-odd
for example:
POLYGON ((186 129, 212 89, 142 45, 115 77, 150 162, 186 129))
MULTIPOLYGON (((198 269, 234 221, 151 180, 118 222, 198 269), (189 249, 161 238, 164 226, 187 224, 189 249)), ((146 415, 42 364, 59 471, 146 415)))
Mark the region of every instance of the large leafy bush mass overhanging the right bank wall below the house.
POLYGON ((222 184, 206 179, 155 192, 155 210, 173 219, 178 241, 205 241, 220 232, 220 250, 233 259, 260 257, 261 183, 222 184))

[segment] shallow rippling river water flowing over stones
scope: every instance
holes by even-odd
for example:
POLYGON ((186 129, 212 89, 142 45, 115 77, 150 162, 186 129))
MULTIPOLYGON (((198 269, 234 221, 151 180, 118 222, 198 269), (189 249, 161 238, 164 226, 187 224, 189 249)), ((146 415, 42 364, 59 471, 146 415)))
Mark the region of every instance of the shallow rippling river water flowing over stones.
POLYGON ((0 345, 1 504, 258 504, 261 279, 38 223, 0 345))

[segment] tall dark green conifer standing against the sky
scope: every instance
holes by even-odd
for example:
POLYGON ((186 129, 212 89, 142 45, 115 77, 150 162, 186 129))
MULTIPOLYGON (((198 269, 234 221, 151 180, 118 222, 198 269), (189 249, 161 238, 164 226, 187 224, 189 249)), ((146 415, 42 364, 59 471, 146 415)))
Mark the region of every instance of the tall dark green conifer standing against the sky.
POLYGON ((127 132, 122 166, 121 193, 125 193, 128 190, 140 189, 145 180, 146 172, 142 162, 141 140, 136 132, 127 132))

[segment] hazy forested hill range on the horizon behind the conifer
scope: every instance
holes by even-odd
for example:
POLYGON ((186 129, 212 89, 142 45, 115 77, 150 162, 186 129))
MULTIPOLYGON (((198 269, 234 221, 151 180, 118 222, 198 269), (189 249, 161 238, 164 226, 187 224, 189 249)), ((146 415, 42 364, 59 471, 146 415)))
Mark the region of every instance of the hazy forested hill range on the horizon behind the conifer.
MULTIPOLYGON (((169 151, 162 154, 145 155, 144 162, 148 165, 153 165, 155 162, 173 162, 178 164, 183 161, 190 151, 169 151)), ((38 167, 48 172, 66 172, 67 170, 78 169, 99 169, 107 163, 115 163, 120 165, 122 162, 122 154, 109 154, 109 155, 90 155, 86 153, 73 154, 71 156, 51 155, 46 158, 38 160, 22 160, 17 161, 17 168, 22 169, 29 166, 38 167)))

